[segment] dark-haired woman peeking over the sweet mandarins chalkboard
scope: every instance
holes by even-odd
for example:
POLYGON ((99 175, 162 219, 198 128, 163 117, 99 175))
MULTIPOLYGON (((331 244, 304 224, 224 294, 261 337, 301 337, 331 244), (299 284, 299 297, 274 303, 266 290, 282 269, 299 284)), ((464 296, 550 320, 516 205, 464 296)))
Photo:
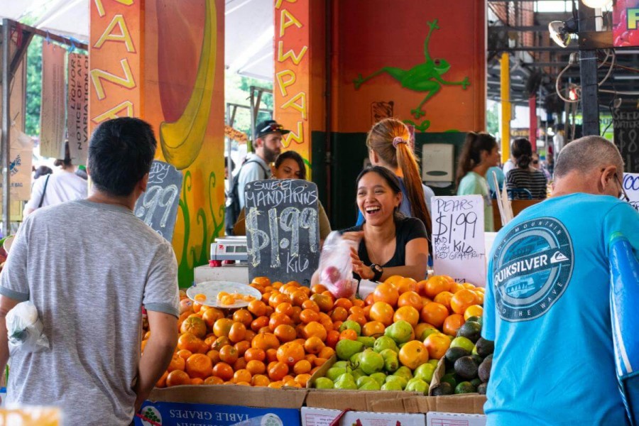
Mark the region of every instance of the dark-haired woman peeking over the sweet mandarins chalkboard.
MULTIPOLYGON (((271 168, 275 179, 306 179, 306 167, 302 155, 295 151, 286 151, 278 155, 275 165, 271 168)), ((320 241, 324 241, 331 233, 331 224, 321 202, 317 202, 319 211, 317 219, 320 222, 320 241)), ((233 227, 233 235, 246 235, 246 209, 242 209, 233 227)))

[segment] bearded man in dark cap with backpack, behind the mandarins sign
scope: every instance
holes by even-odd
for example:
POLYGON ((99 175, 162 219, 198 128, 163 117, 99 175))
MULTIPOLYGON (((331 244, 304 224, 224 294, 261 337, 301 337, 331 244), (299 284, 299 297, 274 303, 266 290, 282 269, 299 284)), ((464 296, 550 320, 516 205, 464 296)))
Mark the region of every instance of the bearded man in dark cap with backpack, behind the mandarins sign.
POLYGON ((256 127, 255 153, 246 155, 238 176, 237 192, 240 208, 244 208, 244 186, 254 180, 268 179, 271 175, 270 163, 282 151, 282 136, 289 133, 275 120, 262 121, 256 127))

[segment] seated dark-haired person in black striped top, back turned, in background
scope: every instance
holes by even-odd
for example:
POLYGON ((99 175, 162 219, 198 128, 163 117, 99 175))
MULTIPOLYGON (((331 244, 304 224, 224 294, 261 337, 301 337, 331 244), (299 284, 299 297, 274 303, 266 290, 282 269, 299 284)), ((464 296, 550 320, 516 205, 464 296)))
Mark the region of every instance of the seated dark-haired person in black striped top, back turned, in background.
MULTIPOLYGON (((541 170, 532 166, 532 145, 525 138, 518 138, 510 146, 510 154, 515 160, 515 168, 506 176, 506 187, 509 190, 528 190, 534 200, 546 197, 548 180, 541 170)), ((513 192, 513 200, 527 198, 523 192, 513 192)))

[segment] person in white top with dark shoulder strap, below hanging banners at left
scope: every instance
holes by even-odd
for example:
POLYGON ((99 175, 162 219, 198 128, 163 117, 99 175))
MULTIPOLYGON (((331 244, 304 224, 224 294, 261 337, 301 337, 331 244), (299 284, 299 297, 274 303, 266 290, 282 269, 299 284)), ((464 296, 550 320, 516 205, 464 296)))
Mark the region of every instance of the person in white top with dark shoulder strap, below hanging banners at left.
POLYGON ((70 200, 81 200, 87 197, 87 181, 75 174, 75 166, 71 162, 69 144, 65 143, 64 160, 55 160, 60 167, 52 175, 33 182, 31 198, 24 206, 24 215, 28 216, 40 207, 53 206, 70 200))

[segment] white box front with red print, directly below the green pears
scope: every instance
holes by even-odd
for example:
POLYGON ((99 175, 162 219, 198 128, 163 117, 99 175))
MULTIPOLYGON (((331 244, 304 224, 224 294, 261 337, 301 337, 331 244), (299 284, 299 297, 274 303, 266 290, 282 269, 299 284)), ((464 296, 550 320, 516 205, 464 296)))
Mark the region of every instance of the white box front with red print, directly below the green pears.
MULTIPOLYGON (((302 407, 302 426, 329 426, 341 410, 302 407)), ((406 413, 367 413, 348 411, 339 420, 340 426, 424 426, 426 416, 406 413)))

